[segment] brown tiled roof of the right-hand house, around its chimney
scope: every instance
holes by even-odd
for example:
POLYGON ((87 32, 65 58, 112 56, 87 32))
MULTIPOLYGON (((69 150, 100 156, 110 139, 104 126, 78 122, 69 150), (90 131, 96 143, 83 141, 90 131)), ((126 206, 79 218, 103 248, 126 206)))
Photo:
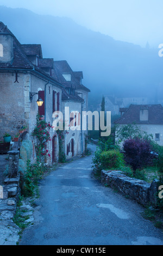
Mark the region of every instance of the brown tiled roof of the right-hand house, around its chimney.
POLYGON ((159 105, 130 105, 115 124, 163 124, 163 107, 159 105), (148 109, 148 121, 140 121, 140 110, 148 109))

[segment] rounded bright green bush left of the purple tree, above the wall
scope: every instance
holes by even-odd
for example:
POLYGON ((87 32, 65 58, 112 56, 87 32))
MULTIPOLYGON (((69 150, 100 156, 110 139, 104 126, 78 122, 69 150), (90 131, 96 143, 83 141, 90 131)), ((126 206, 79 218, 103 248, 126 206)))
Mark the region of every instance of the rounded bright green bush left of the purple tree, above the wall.
POLYGON ((118 150, 103 151, 100 162, 102 169, 120 169, 124 165, 123 155, 118 150))

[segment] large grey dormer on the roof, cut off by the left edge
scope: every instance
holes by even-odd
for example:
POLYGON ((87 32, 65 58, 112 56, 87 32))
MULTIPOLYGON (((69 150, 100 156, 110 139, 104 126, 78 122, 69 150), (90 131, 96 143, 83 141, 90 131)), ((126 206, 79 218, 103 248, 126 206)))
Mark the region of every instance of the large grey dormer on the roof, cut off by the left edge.
POLYGON ((3 22, 0 22, 0 63, 11 63, 13 59, 13 35, 3 22))

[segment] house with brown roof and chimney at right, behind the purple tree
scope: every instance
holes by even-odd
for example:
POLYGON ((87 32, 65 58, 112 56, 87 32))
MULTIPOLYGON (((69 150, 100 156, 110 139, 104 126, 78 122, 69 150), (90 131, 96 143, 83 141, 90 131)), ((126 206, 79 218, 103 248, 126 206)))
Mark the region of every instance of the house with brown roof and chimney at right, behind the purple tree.
MULTIPOLYGON (((142 131, 152 135, 156 143, 163 146, 163 107, 162 105, 130 105, 120 108, 121 118, 114 124, 136 124, 142 131)), ((116 138, 117 139, 117 138, 116 138)))

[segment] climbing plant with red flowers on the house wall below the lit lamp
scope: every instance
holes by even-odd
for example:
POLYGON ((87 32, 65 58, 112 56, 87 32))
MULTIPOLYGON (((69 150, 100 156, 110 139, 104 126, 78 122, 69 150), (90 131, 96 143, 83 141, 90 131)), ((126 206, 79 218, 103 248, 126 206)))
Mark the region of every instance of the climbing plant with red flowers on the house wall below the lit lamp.
POLYGON ((51 156, 50 154, 48 154, 47 142, 51 141, 49 130, 52 128, 52 126, 49 123, 46 123, 44 120, 39 120, 39 115, 37 115, 36 120, 36 126, 32 133, 32 136, 36 137, 37 140, 35 148, 37 157, 39 157, 40 161, 41 159, 44 160, 47 155, 49 157, 51 156))

